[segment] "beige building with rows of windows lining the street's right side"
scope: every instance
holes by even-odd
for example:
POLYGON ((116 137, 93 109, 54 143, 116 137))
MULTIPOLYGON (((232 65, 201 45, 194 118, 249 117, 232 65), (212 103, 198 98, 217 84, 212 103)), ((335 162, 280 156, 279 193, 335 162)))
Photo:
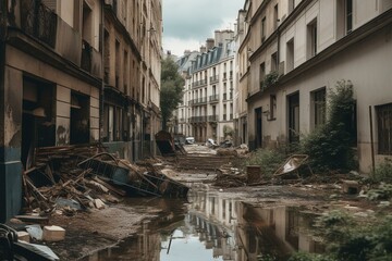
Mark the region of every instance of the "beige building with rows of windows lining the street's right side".
POLYGON ((329 90, 345 79, 354 86, 360 171, 370 170, 372 145, 376 160, 391 156, 392 2, 250 0, 245 8, 238 62, 247 82, 249 147, 273 148, 310 133, 326 121, 329 90))

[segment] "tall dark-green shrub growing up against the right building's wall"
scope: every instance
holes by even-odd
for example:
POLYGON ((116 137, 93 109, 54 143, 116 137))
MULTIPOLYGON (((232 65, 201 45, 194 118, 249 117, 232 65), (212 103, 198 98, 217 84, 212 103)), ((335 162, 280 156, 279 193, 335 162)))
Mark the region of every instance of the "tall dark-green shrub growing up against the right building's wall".
POLYGON ((352 117, 355 105, 353 85, 338 82, 328 95, 327 122, 301 141, 301 152, 308 154, 309 164, 317 172, 356 169, 354 159, 352 117))

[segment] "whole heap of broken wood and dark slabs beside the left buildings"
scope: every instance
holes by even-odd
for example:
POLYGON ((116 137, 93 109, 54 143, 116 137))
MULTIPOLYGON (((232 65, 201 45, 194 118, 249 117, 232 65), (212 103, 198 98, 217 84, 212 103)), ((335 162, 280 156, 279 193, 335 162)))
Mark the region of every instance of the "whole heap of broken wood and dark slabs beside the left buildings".
POLYGON ((176 183, 154 164, 131 164, 100 145, 36 149, 23 174, 28 212, 73 215, 88 208, 103 209, 127 194, 186 197, 188 187, 176 183))

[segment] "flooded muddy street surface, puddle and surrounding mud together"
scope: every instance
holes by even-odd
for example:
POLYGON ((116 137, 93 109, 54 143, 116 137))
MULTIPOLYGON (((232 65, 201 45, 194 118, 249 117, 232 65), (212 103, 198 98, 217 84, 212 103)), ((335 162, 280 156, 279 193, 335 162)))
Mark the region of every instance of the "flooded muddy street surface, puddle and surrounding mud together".
POLYGON ((324 250, 308 229, 322 212, 346 208, 371 215, 371 206, 353 197, 330 200, 331 187, 219 188, 211 184, 215 173, 166 172, 191 187, 186 199, 127 198, 57 216, 52 222, 65 225, 68 236, 49 246, 61 260, 287 260, 298 250, 324 250))

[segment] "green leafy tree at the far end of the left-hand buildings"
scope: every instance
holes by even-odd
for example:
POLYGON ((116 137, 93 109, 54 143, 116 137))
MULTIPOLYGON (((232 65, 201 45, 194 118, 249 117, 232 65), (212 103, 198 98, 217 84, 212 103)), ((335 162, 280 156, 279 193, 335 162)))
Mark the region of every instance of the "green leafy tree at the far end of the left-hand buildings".
POLYGON ((167 129, 167 124, 172 117, 173 111, 182 101, 184 79, 179 74, 179 67, 171 58, 161 62, 161 92, 160 108, 162 112, 162 128, 167 129))

